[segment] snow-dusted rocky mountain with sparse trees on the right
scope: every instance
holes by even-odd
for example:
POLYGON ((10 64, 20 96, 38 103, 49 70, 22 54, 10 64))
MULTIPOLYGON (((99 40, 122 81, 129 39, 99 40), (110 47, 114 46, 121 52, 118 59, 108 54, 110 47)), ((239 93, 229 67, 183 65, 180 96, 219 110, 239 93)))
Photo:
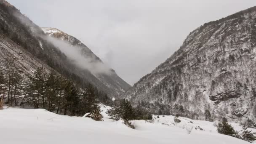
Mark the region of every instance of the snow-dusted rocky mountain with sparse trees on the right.
MULTIPOLYGON (((256 7, 203 24, 125 93, 154 113, 256 124, 256 7)), ((256 126, 256 125, 255 125, 256 126)))

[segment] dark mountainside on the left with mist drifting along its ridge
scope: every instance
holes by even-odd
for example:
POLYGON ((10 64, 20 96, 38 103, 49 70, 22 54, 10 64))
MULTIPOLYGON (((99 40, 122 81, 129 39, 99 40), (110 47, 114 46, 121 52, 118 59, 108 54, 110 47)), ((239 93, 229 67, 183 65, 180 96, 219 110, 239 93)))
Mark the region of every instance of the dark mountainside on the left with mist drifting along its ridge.
MULTIPOLYGON (((56 72, 70 77, 81 87, 91 83, 99 91, 104 91, 111 97, 119 96, 130 88, 130 85, 118 77, 113 69, 109 69, 108 74, 93 73, 91 69, 75 64, 48 37, 40 27, 20 13, 13 5, 5 0, 0 0, 0 67, 2 69, 6 69, 5 61, 8 58, 16 61, 16 67, 25 78, 33 76, 35 69, 44 65, 47 71, 54 69, 56 72)), ((101 66, 104 66, 103 62, 83 43, 75 37, 69 37, 70 40, 73 40, 72 45, 80 46, 84 57, 91 57, 92 61, 87 61, 86 64, 93 67, 95 61, 100 61, 101 66)))

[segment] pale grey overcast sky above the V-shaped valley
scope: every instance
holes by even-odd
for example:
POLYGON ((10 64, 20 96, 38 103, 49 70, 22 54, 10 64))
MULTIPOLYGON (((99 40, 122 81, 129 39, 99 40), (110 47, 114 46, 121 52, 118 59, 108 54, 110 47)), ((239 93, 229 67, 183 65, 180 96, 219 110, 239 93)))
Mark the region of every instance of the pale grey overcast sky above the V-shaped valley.
POLYGON ((7 1, 40 27, 82 41, 130 85, 163 63, 200 25, 256 5, 256 0, 7 1))

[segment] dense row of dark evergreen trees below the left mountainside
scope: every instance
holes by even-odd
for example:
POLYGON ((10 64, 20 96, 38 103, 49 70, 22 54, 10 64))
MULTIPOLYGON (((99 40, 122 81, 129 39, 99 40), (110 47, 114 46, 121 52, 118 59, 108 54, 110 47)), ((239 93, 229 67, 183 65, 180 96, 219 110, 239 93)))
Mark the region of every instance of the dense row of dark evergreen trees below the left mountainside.
POLYGON ((99 115, 99 99, 109 102, 109 97, 93 85, 80 88, 54 70, 47 73, 43 66, 38 67, 33 75, 25 79, 14 61, 6 60, 5 69, 0 70, 0 96, 4 98, 5 104, 43 108, 71 116, 83 116, 90 112, 102 117, 99 115))

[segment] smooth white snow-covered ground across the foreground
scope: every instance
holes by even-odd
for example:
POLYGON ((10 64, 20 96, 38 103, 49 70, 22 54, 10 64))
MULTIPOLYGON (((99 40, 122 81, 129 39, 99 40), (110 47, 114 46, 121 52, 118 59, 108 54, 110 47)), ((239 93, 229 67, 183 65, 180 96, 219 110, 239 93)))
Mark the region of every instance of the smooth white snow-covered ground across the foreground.
MULTIPOLYGON (((101 105, 104 121, 87 117, 56 115, 45 109, 8 108, 0 110, 1 144, 249 144, 221 135, 214 123, 173 116, 153 116, 153 122, 135 120, 136 129, 105 114, 110 107, 101 105), (192 123, 189 123, 192 121, 192 123), (200 126, 203 130, 195 127, 200 126), (193 127, 193 128, 192 128, 193 127), (189 134, 187 129, 192 128, 189 134)), ((238 124, 234 124, 237 130, 238 124)), ((255 130, 254 130, 255 131, 255 130)))

